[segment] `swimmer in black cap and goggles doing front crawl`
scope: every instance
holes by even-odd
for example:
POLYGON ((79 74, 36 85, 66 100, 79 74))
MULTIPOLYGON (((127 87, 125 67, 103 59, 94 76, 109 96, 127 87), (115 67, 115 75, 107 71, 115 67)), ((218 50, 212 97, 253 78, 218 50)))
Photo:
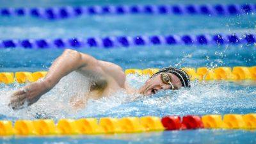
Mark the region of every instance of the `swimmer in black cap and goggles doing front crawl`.
POLYGON ((76 102, 75 107, 84 108, 86 100, 108 97, 118 90, 127 93, 141 93, 152 95, 161 90, 178 90, 182 87, 190 87, 188 74, 179 68, 163 68, 150 77, 141 88, 132 90, 125 81, 125 73, 121 67, 108 61, 101 61, 88 54, 66 49, 52 63, 44 79, 28 84, 17 90, 11 96, 9 106, 12 109, 24 108, 24 103, 34 104, 42 95, 49 92, 62 77, 70 72, 79 72, 83 76, 90 77, 90 92, 83 99, 72 100, 76 102))

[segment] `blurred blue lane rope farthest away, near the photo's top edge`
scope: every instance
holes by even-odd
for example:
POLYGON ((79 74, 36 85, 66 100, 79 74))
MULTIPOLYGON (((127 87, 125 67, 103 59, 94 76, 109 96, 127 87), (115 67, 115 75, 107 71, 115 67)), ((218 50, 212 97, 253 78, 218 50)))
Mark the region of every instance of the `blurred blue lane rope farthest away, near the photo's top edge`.
POLYGON ((237 15, 256 12, 256 4, 186 4, 186 5, 118 5, 64 6, 49 8, 0 8, 3 16, 33 16, 45 19, 67 19, 80 15, 173 14, 237 15))

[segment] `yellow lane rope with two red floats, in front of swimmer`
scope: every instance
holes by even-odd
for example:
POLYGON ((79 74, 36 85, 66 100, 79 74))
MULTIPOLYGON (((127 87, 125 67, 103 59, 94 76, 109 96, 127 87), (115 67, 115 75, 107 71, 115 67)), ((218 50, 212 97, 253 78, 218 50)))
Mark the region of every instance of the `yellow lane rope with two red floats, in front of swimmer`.
POLYGON ((256 113, 246 115, 186 115, 180 116, 143 116, 124 118, 81 118, 78 120, 8 120, 0 121, 0 136, 47 136, 74 134, 114 134, 147 131, 172 131, 185 129, 256 129, 256 113))

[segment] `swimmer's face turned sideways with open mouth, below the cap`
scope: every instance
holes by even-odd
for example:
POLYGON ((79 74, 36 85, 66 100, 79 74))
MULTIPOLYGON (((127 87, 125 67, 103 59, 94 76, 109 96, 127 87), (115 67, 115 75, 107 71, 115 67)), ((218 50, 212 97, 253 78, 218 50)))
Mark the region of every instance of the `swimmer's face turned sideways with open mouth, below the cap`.
POLYGON ((148 79, 146 83, 143 84, 143 86, 140 88, 139 92, 143 95, 152 95, 161 90, 178 90, 182 87, 180 79, 177 76, 170 73, 166 74, 168 74, 168 77, 170 77, 170 82, 173 84, 173 87, 171 84, 164 83, 161 74, 157 74, 156 76, 148 79))

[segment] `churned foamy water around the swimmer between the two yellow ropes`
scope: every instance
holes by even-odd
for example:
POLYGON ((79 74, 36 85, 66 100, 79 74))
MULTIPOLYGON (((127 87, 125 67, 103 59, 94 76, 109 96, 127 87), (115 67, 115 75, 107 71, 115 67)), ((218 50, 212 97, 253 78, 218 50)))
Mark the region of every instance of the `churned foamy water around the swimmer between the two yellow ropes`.
MULTIPOLYGON (((148 76, 128 75, 127 82, 139 88, 148 76)), ((22 85, 14 84, 0 89, 0 118, 81 118, 102 116, 145 115, 204 115, 209 113, 252 113, 256 109, 255 83, 228 83, 194 81, 190 89, 159 92, 152 96, 128 95, 124 91, 99 100, 88 100, 86 108, 72 108, 72 96, 84 97, 90 79, 72 72, 61 79, 50 92, 28 108, 13 111, 8 108, 10 95, 22 85)))

